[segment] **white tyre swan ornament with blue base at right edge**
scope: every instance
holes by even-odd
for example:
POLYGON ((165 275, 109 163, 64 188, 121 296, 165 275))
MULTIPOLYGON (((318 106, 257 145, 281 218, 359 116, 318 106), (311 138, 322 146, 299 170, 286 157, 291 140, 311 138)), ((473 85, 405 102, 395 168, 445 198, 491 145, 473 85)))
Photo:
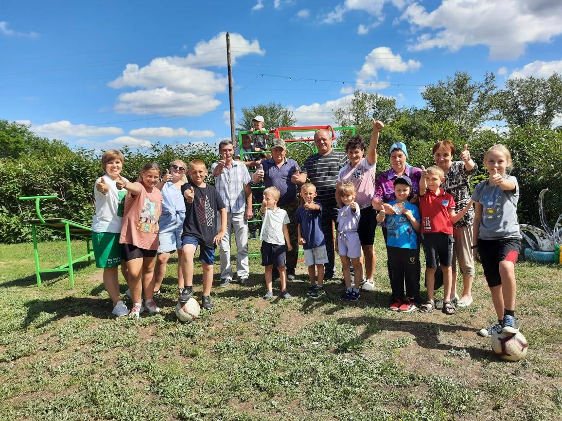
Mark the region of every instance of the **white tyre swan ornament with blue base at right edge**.
POLYGON ((560 260, 560 244, 562 244, 562 214, 556 219, 552 229, 545 219, 545 194, 549 189, 543 189, 538 195, 538 216, 542 229, 522 223, 519 225, 523 240, 529 245, 523 250, 525 260, 538 263, 562 263, 560 260))

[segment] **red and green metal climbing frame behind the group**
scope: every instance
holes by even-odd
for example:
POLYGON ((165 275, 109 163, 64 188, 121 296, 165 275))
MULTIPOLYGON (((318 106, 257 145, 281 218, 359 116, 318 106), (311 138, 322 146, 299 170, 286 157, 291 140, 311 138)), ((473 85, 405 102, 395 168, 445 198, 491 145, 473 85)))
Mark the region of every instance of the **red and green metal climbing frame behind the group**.
MULTIPOLYGON (((320 129, 328 130, 332 135, 330 138, 332 140, 336 140, 336 131, 351 131, 351 135, 355 136, 356 130, 354 126, 346 126, 346 127, 332 127, 332 126, 292 126, 292 127, 277 127, 277 129, 273 129, 270 131, 267 130, 260 130, 260 131, 239 131, 238 132, 238 147, 240 151, 240 159, 244 160, 244 155, 247 154, 255 154, 256 152, 244 152, 242 147, 242 135, 256 135, 256 134, 273 134, 275 139, 283 138, 284 133, 299 133, 299 132, 310 132, 310 131, 317 131, 320 129)), ((304 145, 305 148, 310 149, 310 154, 314 154, 318 152, 318 148, 316 145, 313 144, 314 138, 306 138, 306 139, 285 139, 285 143, 287 144, 287 153, 289 154, 290 149, 296 147, 297 145, 304 145)), ((343 150, 345 148, 334 148, 336 150, 343 150)), ((270 150, 264 150, 262 153, 271 153, 270 150)), ((255 172, 252 170, 251 172, 255 172)), ((252 190, 264 190, 264 186, 252 186, 252 190)), ((261 203, 254 203, 253 207, 261 207, 261 203)), ((260 219, 252 219, 248 221, 251 222, 261 222, 260 219)), ((304 253, 304 250, 298 250, 298 253, 304 253)), ((248 257, 258 257, 261 256, 261 253, 251 253, 248 257)))

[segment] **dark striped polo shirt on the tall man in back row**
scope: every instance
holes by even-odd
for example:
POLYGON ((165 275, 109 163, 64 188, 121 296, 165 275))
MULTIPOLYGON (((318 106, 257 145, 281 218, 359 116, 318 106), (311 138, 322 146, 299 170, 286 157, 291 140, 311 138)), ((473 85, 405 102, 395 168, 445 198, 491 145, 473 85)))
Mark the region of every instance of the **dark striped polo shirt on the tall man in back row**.
POLYGON ((335 207, 336 185, 338 183, 339 170, 346 166, 347 155, 340 150, 332 150, 326 155, 315 153, 306 158, 302 166, 310 182, 316 186, 316 202, 320 202, 323 208, 335 207))

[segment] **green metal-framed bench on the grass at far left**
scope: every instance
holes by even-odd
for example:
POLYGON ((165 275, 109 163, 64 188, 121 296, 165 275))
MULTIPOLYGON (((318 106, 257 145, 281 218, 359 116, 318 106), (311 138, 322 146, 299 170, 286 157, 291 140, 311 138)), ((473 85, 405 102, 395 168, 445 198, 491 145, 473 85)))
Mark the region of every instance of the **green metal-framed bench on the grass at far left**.
POLYGON ((58 199, 58 196, 24 196, 20 200, 35 200, 35 212, 37 212, 37 219, 28 219, 24 221, 31 225, 31 236, 33 237, 33 255, 35 259, 35 274, 37 276, 37 286, 41 286, 41 274, 48 272, 69 272, 70 287, 74 287, 74 264, 88 259, 88 263, 92 262, 94 255, 93 249, 90 246, 92 240, 92 228, 78 222, 70 221, 65 218, 44 218, 40 211, 41 199, 58 199), (39 267, 39 249, 37 243, 37 228, 47 228, 48 230, 56 232, 64 232, 66 236, 66 253, 68 263, 58 266, 53 269, 41 269, 39 267), (72 259, 72 247, 70 236, 79 237, 86 240, 87 253, 79 258, 72 259))

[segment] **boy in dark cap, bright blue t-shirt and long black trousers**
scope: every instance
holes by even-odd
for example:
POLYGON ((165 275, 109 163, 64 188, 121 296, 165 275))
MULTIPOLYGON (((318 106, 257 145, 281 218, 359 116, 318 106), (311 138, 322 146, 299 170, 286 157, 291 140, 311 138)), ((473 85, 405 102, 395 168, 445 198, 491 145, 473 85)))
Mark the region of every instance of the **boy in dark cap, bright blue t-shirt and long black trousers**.
POLYGON ((396 200, 389 203, 395 211, 387 215, 384 209, 377 215, 377 222, 386 218, 388 231, 387 254, 391 267, 392 288, 390 309, 399 312, 412 312, 419 301, 419 255, 418 236, 420 231, 420 213, 418 207, 408 202, 408 195, 412 191, 412 180, 408 176, 398 177, 394 181, 396 200), (406 283, 406 297, 404 297, 404 283, 406 283))

